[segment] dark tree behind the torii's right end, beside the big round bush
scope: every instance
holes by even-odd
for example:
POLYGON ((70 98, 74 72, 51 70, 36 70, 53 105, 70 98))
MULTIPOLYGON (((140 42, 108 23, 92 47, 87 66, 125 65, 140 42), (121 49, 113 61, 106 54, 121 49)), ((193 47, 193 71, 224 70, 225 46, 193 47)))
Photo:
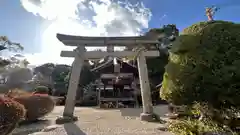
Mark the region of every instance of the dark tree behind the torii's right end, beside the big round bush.
MULTIPOLYGON (((160 52, 159 57, 152 57, 147 58, 147 67, 149 72, 149 77, 151 82, 156 85, 161 83, 163 73, 165 71, 165 65, 168 62, 168 49, 171 48, 173 41, 178 37, 179 30, 177 29, 176 25, 168 24, 164 25, 162 28, 154 28, 150 29, 148 32, 145 33, 145 36, 151 39, 158 39, 160 41, 159 44, 155 46, 138 46, 136 48, 129 48, 127 47, 125 50, 134 50, 137 52, 140 51, 147 51, 147 50, 158 50, 160 52)), ((136 60, 135 58, 130 58, 130 63, 136 60)), ((129 58, 128 58, 129 59, 129 58)))

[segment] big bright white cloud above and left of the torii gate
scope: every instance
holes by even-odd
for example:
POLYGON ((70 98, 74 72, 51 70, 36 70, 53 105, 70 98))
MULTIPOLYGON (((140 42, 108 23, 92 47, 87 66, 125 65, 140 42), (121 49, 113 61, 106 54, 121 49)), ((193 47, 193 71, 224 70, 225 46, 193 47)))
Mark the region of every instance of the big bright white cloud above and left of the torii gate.
POLYGON ((25 54, 31 64, 45 62, 71 64, 61 58, 61 50, 72 50, 56 39, 56 33, 82 36, 139 35, 148 28, 149 9, 142 3, 111 0, 21 0, 22 6, 53 23, 42 35, 41 53, 25 54))

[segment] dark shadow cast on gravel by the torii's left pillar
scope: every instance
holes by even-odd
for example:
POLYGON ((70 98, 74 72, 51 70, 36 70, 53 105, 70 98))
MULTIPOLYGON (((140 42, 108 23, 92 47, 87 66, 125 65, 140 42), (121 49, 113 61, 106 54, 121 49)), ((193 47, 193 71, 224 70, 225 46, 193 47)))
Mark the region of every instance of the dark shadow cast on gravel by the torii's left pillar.
POLYGON ((67 135, 87 135, 75 123, 64 124, 67 135))

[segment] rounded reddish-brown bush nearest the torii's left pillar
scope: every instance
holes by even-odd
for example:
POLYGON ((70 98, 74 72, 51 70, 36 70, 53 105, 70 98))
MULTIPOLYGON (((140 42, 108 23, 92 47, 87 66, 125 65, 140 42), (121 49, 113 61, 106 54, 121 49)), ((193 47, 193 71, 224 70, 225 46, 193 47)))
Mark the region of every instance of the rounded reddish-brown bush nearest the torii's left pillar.
POLYGON ((48 95, 27 95, 16 97, 14 100, 18 101, 26 108, 26 121, 34 121, 44 117, 52 112, 55 106, 54 100, 48 95))

